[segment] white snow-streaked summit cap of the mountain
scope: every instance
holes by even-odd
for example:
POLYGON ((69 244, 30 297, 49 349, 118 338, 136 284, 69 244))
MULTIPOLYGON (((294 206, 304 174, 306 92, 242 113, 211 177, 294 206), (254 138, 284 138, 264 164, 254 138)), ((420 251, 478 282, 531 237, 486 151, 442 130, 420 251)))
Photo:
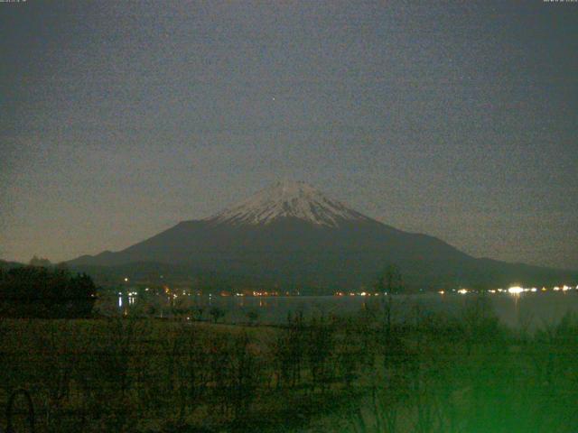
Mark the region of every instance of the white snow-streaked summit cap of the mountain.
POLYGON ((257 192, 208 220, 234 225, 266 225, 283 217, 331 227, 339 226, 342 221, 369 219, 339 201, 325 197, 305 182, 284 181, 257 192))

